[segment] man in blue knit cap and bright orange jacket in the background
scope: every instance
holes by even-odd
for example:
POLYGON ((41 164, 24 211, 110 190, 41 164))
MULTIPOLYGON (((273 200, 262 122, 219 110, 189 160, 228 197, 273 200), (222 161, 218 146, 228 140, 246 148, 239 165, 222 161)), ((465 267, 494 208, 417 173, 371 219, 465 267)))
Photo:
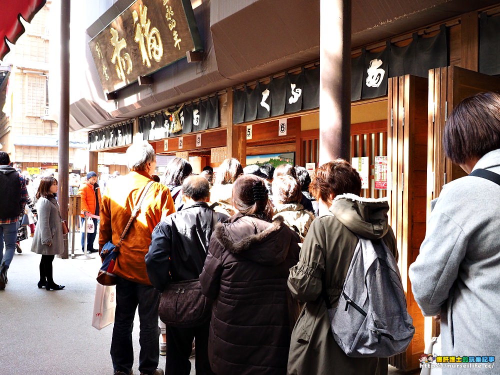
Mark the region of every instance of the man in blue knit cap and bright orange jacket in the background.
MULTIPOLYGON (((99 207, 101 201, 100 189, 97 184, 97 173, 90 171, 86 175, 86 180, 80 185, 78 189, 78 194, 81 196, 81 211, 90 212, 93 215, 99 215, 99 207)), ((85 226, 83 225, 85 216, 83 213, 81 216, 81 250, 84 251, 84 237, 85 237, 85 226)), ((94 231, 93 233, 87 233, 87 251, 96 252, 97 249, 93 248, 93 243, 95 240, 95 235, 97 234, 97 219, 95 217, 88 217, 87 220, 93 221, 94 231)))

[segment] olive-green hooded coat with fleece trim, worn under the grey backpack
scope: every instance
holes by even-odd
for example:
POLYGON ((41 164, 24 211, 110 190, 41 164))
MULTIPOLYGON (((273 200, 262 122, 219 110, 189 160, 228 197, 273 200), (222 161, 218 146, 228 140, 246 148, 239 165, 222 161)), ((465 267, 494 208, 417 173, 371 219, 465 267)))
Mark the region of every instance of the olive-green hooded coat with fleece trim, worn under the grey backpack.
POLYGON ((338 195, 328 214, 312 221, 290 269, 292 295, 306 302, 293 328, 288 357, 289 375, 374 375, 387 373, 387 360, 348 357, 333 339, 330 319, 321 290, 336 307, 349 268, 357 235, 382 239, 396 255, 392 229, 387 222, 386 200, 365 199, 354 194, 338 195), (377 372, 377 366, 381 372, 377 372))

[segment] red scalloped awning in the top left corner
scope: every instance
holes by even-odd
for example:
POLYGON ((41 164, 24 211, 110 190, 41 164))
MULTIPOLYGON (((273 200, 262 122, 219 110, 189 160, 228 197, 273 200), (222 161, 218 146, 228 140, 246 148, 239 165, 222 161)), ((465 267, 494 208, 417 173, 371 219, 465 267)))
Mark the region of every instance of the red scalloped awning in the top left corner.
POLYGON ((6 43, 15 43, 17 38, 24 32, 24 27, 20 21, 20 17, 28 22, 45 5, 46 0, 10 0, 3 1, 1 6, 0 19, 0 60, 5 57, 10 50, 6 43))

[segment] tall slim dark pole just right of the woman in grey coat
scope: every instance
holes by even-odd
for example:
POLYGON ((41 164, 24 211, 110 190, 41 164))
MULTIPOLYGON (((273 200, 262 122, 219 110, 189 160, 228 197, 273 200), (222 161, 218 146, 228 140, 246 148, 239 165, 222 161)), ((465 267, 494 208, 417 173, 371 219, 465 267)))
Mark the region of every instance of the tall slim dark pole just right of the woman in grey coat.
MULTIPOLYGON (((60 110, 59 110, 59 147, 58 147, 58 177, 59 186, 57 199, 60 214, 63 219, 68 217, 68 180, 69 180, 69 16, 70 2, 61 2, 60 14, 60 110)), ((68 258, 67 234, 64 235, 63 252, 57 255, 68 258)))

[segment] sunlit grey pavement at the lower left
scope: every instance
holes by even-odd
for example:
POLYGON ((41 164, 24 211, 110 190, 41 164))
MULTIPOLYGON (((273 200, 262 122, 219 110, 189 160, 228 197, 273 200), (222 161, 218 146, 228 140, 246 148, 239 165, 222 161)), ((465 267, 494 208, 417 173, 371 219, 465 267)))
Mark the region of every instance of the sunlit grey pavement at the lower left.
MULTIPOLYGON (((75 239, 79 242, 79 233, 75 239)), ((31 238, 21 241, 23 251, 14 255, 8 283, 0 290, 0 374, 111 375, 112 324, 100 331, 90 325, 98 256, 92 254, 95 258, 88 260, 55 257, 54 281, 66 288, 47 291, 36 286, 40 255, 30 252, 30 246, 31 238)), ((81 254, 81 250, 75 253, 81 254)), ((138 328, 136 315, 136 375, 138 328)), ((159 367, 165 368, 164 356, 160 356, 159 367)))

